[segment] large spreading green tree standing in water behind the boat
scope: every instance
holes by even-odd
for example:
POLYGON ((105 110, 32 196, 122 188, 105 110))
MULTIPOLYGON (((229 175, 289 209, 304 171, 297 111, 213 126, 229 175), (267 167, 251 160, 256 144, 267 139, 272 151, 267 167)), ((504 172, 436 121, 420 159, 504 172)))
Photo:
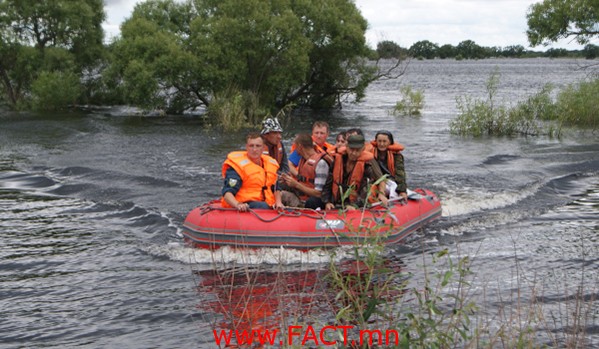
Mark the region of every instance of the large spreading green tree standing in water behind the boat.
POLYGON ((123 24, 110 73, 130 103, 174 113, 248 94, 328 108, 399 67, 366 60, 366 27, 351 0, 150 0, 123 24))

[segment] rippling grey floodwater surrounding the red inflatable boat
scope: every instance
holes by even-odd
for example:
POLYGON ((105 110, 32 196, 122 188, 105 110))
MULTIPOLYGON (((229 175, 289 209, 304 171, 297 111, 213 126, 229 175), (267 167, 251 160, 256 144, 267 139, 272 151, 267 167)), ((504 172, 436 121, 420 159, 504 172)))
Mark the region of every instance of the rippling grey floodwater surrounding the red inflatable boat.
MULTIPOLYGON (((483 97, 493 71, 499 102, 513 105, 545 83, 583 79, 584 63, 414 61, 400 79, 373 84, 360 104, 286 120, 284 141, 317 119, 333 134, 392 131, 406 146, 409 187, 436 192, 443 217, 390 248, 388 259, 417 283, 432 252, 468 255, 482 313, 492 317, 535 285, 555 333, 571 329, 559 321, 567 305, 585 300, 590 348, 599 345, 597 132, 470 139, 448 126, 456 97, 483 97), (425 92, 419 118, 389 113, 404 84, 425 92)), ((272 321, 262 326, 279 324, 283 309, 334 319, 319 299, 328 253, 213 254, 182 241, 185 215, 219 195, 222 161, 243 145, 244 131, 128 114, 0 114, 0 347, 214 348, 214 328, 243 328, 252 316, 272 321)), ((338 251, 339 263, 345 257, 338 251)))

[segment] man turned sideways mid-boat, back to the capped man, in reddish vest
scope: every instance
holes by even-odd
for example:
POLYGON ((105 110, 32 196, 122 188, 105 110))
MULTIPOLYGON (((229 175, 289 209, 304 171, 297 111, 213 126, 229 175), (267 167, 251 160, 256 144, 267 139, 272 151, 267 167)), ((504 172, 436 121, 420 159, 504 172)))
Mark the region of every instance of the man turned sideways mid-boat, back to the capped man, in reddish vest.
POLYGON ((293 144, 302 159, 298 166, 297 178, 290 174, 283 174, 282 181, 289 190, 282 191, 283 203, 286 206, 311 209, 324 209, 322 201, 322 188, 329 176, 333 164, 333 157, 325 152, 317 152, 312 144, 312 136, 308 133, 299 134, 293 144))

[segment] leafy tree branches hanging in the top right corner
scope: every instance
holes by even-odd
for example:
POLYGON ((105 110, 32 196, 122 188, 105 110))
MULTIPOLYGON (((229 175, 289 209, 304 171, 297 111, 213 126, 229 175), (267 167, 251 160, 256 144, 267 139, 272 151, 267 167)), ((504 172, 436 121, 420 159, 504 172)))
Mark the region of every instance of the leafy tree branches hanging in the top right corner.
POLYGON ((587 44, 599 34, 599 1, 544 0, 530 6, 526 34, 532 46, 573 37, 587 44))

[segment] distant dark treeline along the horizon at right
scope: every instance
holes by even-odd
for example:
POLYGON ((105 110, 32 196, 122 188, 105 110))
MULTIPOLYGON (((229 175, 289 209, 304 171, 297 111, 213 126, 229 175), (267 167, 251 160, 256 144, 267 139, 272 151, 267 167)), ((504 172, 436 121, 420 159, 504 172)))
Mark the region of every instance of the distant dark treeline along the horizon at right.
POLYGON ((377 44, 376 55, 380 58, 413 57, 416 59, 454 58, 454 59, 483 59, 483 58, 586 58, 599 57, 599 46, 587 44, 582 50, 566 50, 550 48, 547 51, 527 50, 522 45, 506 47, 485 47, 477 45, 472 40, 464 40, 457 46, 445 44, 439 46, 428 40, 414 43, 410 48, 399 46, 393 41, 381 41, 377 44))

